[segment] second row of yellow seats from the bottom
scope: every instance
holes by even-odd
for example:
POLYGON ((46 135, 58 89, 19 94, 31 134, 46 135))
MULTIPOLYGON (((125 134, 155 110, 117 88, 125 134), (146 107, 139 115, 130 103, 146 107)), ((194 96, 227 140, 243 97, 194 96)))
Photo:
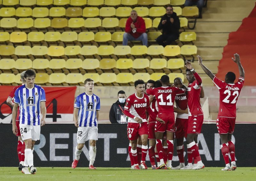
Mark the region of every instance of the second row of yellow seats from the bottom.
POLYGON ((132 59, 122 58, 118 59, 68 59, 65 61, 64 59, 35 59, 33 62, 30 59, 17 59, 14 61, 13 59, 1 59, 0 60, 0 69, 11 70, 25 70, 25 69, 85 69, 85 70, 93 70, 93 69, 181 69, 184 68, 184 60, 181 58, 178 59, 169 59, 166 61, 163 58, 155 58, 149 61, 146 58, 132 59))

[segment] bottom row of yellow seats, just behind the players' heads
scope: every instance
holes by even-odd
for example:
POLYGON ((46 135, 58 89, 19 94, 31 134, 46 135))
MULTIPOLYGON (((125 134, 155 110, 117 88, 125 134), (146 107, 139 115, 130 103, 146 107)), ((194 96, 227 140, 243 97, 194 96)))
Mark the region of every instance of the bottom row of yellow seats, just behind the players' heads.
MULTIPOLYGON (((149 79, 152 80, 159 80, 161 76, 166 75, 165 73, 153 73, 149 75, 148 73, 136 73, 132 75, 131 73, 86 73, 84 75, 80 73, 69 73, 65 75, 63 73, 52 73, 48 75, 46 73, 37 73, 35 78, 36 84, 45 84, 45 83, 52 83, 52 84, 61 84, 61 83, 68 83, 68 84, 82 84, 85 79, 91 78, 94 83, 132 83, 138 79, 142 79, 144 81, 148 81, 149 79)), ((170 82, 173 83, 173 80, 176 77, 180 77, 182 81, 184 80, 184 75, 182 73, 170 73, 168 74, 170 77, 170 82)), ((0 74, 0 83, 1 84, 11 84, 11 83, 18 83, 20 84, 20 74, 16 76, 14 74, 7 74, 3 73, 0 74)))

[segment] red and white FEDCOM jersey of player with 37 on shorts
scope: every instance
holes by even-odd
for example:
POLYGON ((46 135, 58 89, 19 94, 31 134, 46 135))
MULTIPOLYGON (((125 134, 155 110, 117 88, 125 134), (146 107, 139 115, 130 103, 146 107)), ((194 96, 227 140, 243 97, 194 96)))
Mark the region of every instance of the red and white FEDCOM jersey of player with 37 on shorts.
POLYGON ((136 93, 129 96, 124 105, 124 114, 129 117, 128 122, 137 123, 135 117, 147 122, 147 107, 149 107, 149 98, 146 94, 143 94, 142 98, 137 97, 136 93))

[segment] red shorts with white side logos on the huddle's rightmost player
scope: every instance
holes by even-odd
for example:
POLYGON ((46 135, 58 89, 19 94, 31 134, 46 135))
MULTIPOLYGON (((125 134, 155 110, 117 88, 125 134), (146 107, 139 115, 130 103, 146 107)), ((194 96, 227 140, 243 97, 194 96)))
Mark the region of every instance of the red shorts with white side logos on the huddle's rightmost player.
POLYGON ((188 116, 188 134, 200 134, 204 121, 204 115, 188 116))

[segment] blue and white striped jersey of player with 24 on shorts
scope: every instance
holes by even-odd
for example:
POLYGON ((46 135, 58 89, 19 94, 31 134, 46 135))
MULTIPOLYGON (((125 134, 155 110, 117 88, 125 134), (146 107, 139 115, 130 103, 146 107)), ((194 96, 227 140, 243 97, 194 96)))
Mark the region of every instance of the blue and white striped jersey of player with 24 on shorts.
POLYGON ((15 91, 14 102, 20 106, 20 124, 40 125, 41 101, 46 101, 45 92, 36 84, 31 89, 24 84, 15 91))

